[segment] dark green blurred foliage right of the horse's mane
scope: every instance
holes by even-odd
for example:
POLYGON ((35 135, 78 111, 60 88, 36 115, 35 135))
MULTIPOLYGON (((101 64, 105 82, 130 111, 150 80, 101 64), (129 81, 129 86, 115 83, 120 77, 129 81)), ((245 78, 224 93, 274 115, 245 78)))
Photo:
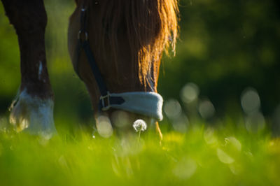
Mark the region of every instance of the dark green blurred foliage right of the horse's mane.
POLYGON ((276 2, 181 1, 181 41, 176 57, 165 60, 159 92, 178 99, 183 85, 194 82, 224 114, 240 108, 241 92, 255 87, 271 114, 280 103, 276 2))

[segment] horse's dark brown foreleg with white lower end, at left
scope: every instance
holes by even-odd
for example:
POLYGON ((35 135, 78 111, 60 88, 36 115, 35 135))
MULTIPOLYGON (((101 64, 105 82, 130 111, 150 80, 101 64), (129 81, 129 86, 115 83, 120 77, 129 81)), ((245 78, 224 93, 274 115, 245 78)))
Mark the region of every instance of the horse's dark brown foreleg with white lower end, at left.
POLYGON ((53 93, 45 60, 47 15, 43 0, 2 0, 20 45, 20 92, 10 108, 10 122, 18 131, 51 136, 53 93))

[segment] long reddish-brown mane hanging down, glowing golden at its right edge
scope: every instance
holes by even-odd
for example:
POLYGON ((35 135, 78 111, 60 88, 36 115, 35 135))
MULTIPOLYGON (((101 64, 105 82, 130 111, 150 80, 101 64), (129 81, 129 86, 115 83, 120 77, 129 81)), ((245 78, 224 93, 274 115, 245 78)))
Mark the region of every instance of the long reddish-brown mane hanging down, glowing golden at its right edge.
POLYGON ((132 71, 138 72, 132 76, 138 76, 141 84, 146 86, 152 62, 159 63, 162 52, 168 53, 170 47, 175 51, 177 0, 99 0, 88 3, 91 9, 89 19, 93 19, 89 22, 97 25, 94 27, 97 59, 106 60, 108 51, 111 51, 118 73, 118 64, 122 62, 120 47, 126 41, 132 71), (101 3, 102 6, 98 6, 101 3))

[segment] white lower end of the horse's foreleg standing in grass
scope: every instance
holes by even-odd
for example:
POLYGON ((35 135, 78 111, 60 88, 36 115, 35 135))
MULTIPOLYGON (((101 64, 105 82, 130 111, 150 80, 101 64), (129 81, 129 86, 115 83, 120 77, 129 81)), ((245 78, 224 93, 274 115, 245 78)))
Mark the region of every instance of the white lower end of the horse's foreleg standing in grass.
POLYGON ((10 106, 10 123, 18 132, 24 130, 29 134, 51 138, 57 133, 52 99, 40 99, 27 94, 26 90, 22 91, 10 106))

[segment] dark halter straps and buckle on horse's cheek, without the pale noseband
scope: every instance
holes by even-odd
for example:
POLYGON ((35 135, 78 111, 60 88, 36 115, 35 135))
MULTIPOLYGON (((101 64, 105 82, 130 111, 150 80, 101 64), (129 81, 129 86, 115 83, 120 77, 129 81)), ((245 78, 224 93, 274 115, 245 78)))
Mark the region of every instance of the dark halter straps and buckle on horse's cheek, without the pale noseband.
MULTIPOLYGON (((87 62, 90 64, 90 68, 92 69, 92 73, 94 78, 97 82, 97 86, 99 88, 99 92, 101 94, 99 99, 99 111, 106 111, 111 108, 111 104, 114 105, 121 105, 125 102, 125 100, 121 96, 111 96, 109 90, 104 83, 102 78, 102 74, 100 73, 97 63, 95 62, 93 52, 90 48, 90 43, 88 41, 88 34, 87 34, 87 16, 86 16, 86 8, 82 6, 81 13, 80 13, 80 31, 78 32, 78 45, 76 47, 77 50, 77 57, 76 57, 76 66, 74 69, 78 76, 79 74, 79 65, 78 61, 80 59, 80 53, 84 50, 85 55, 87 57, 87 62), (81 35, 84 34, 84 38, 81 38, 81 35)), ((82 78, 80 78, 82 80, 82 78)))

